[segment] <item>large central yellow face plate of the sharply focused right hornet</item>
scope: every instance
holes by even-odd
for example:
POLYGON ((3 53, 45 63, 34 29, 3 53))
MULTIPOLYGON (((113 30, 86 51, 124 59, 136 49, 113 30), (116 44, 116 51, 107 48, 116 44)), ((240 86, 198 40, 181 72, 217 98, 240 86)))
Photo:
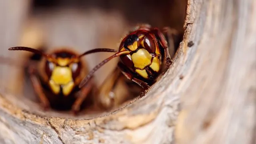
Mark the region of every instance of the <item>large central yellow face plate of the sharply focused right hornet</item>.
POLYGON ((139 49, 132 54, 132 62, 135 68, 143 69, 151 64, 152 55, 144 48, 139 49))

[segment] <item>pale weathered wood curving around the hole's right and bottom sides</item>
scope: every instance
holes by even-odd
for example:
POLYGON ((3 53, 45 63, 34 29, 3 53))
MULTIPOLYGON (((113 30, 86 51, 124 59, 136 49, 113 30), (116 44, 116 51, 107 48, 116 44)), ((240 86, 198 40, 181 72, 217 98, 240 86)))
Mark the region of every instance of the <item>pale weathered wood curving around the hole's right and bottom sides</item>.
POLYGON ((184 39, 172 66, 146 96, 95 118, 41 114, 34 110, 36 104, 21 104, 2 90, 0 140, 4 144, 255 143, 255 16, 255 0, 188 0, 184 39))

